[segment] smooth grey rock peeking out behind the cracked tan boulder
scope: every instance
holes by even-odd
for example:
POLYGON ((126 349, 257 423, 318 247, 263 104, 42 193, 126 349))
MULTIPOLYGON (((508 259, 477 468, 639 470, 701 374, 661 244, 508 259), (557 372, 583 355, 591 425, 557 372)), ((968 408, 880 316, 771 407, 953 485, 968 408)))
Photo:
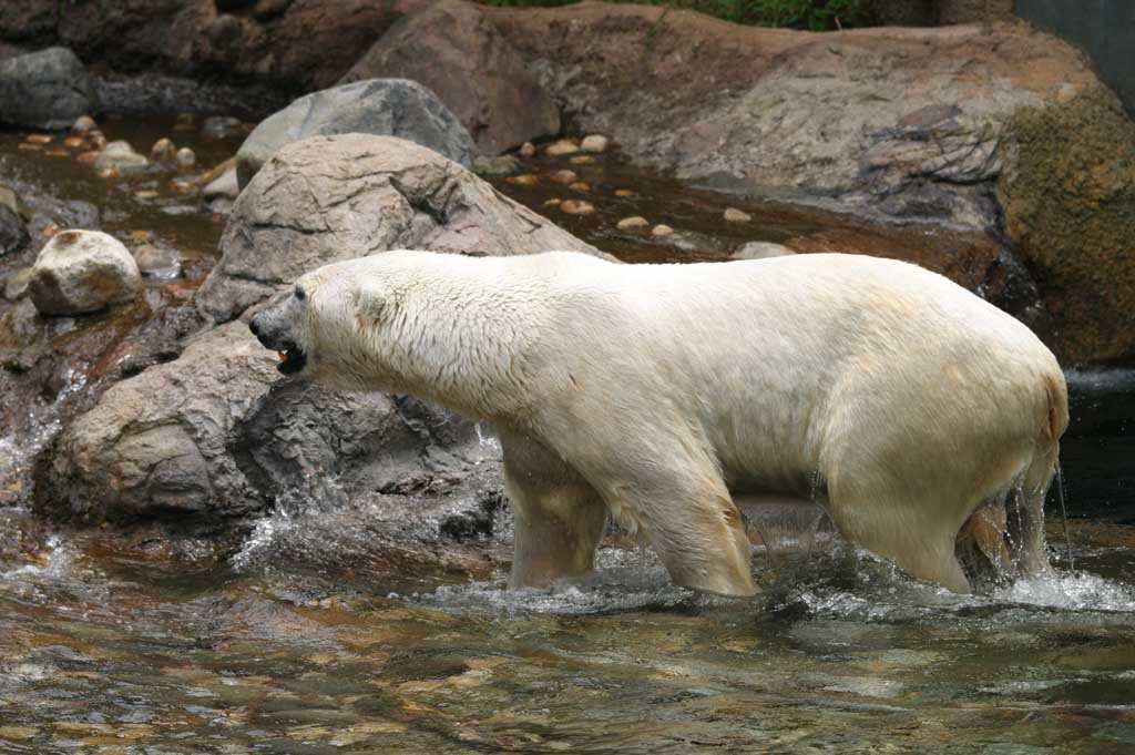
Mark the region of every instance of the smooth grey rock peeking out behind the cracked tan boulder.
POLYGON ((237 181, 246 186, 285 144, 348 133, 398 136, 472 163, 469 133, 429 90, 404 79, 368 79, 308 94, 261 121, 236 154, 237 181))

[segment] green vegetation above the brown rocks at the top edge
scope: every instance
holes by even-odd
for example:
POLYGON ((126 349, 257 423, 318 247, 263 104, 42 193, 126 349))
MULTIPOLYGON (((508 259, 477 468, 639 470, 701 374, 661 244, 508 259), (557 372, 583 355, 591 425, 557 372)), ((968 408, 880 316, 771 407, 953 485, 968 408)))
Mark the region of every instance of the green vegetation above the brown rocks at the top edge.
MULTIPOLYGON (((489 6, 555 7, 575 0, 481 0, 489 6)), ((617 0, 615 0, 617 1, 617 0)), ((872 0, 637 0, 669 8, 699 10, 734 24, 781 26, 824 32, 877 23, 872 0)))

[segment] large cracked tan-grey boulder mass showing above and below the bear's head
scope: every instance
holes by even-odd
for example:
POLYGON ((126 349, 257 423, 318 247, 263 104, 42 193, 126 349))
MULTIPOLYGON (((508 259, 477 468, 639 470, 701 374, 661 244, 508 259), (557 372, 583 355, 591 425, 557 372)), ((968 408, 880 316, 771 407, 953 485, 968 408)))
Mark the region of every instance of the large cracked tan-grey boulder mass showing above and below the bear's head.
MULTIPOLYGON (((318 136, 285 146, 242 192, 195 305, 233 320, 314 267, 395 248, 598 253, 431 150, 318 136)), ((373 505, 384 531, 428 538, 482 531, 499 501, 498 461, 473 425, 417 400, 283 380, 275 355, 234 320, 66 426, 42 456, 35 496, 91 521, 373 505)))

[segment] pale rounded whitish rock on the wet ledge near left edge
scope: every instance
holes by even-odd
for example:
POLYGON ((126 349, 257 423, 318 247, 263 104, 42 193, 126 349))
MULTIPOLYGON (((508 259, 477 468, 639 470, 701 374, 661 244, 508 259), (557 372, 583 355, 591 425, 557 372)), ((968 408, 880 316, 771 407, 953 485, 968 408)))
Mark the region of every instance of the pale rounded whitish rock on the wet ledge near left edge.
POLYGON ((28 294, 41 314, 84 314, 134 299, 142 285, 134 258, 99 230, 65 230, 40 251, 28 294))

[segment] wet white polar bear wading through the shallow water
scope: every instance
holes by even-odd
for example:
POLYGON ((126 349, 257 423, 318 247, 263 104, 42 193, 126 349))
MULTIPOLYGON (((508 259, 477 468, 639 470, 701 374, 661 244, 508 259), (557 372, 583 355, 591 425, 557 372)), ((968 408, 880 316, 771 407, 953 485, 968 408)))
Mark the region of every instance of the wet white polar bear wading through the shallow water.
POLYGON ((956 539, 1007 509, 1008 570, 1048 568, 1063 374, 914 265, 390 251, 304 275, 250 327, 285 374, 496 426, 514 586, 589 572, 612 514, 676 584, 750 595, 737 504, 762 495, 819 500, 848 540, 959 593, 956 539))

